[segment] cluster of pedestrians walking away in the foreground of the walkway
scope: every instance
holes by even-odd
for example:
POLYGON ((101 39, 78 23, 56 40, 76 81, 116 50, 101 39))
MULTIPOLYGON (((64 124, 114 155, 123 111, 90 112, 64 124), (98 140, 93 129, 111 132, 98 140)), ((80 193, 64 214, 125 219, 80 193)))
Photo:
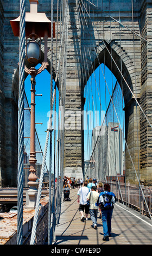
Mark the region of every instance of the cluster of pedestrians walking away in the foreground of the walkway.
POLYGON ((102 218, 104 237, 107 240, 111 236, 111 218, 113 212, 113 204, 116 203, 116 196, 110 192, 110 185, 103 184, 94 178, 85 180, 82 187, 78 191, 79 212, 81 214, 81 221, 88 220, 90 214, 93 228, 97 229, 97 215, 99 208, 99 217, 102 218), (85 216, 84 216, 85 210, 85 216))

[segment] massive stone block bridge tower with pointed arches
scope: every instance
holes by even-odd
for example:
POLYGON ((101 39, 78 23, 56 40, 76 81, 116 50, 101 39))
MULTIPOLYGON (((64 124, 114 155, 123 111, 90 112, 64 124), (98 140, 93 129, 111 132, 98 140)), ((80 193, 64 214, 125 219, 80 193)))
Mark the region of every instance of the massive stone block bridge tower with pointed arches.
MULTIPOLYGON (((65 130, 64 172, 70 176, 83 176, 84 131, 81 111, 84 109, 84 88, 88 77, 84 74, 81 61, 85 46, 90 46, 88 74, 92 74, 99 62, 105 63, 119 84, 123 86, 125 103, 126 180, 136 183, 136 170, 140 170, 140 180, 152 184, 152 130, 143 112, 152 124, 152 2, 151 0, 95 0, 82 1, 90 10, 91 19, 87 23, 90 33, 81 37, 80 16, 77 1, 68 1, 68 40, 65 109, 73 111, 77 125, 65 130), (93 3, 93 4, 92 4, 93 3), (98 6, 98 8, 93 8, 98 6), (109 16, 110 15, 110 16, 109 16), (119 15, 121 22, 119 21, 119 15), (115 18, 115 20, 110 19, 115 18), (132 19, 134 21, 132 21, 132 19), (119 36, 120 24, 121 41, 119 36), (96 27, 97 29, 95 29, 96 27), (98 31, 97 31, 98 30, 98 31), (134 31, 134 33, 132 32, 134 31), (93 45, 91 41, 93 40, 93 45), (91 51, 92 47, 92 51, 91 51), (97 56, 93 54, 95 47, 97 56), (98 61, 99 60, 99 61, 98 61), (122 62, 121 62, 122 60, 122 62), (121 70, 124 77, 118 72, 121 70), (122 81, 122 82, 121 82, 122 81), (127 86, 129 85, 129 88, 127 86), (143 110, 137 105, 135 97, 143 110), (137 118, 136 118, 137 117, 137 118), (132 165, 132 162, 134 163, 132 165)), ((38 11, 46 13, 50 19, 49 0, 39 0, 38 11)), ((26 12, 29 10, 26 1, 26 12)), ((56 26, 57 0, 54 1, 54 21, 56 26)), ((19 0, 0 0, 0 186, 17 186, 17 140, 18 140, 18 38, 12 33, 10 20, 20 15, 19 0)), ((49 42, 50 43, 50 42, 49 42)), ((49 46, 48 46, 49 47, 49 46)), ((53 60, 58 58, 53 49, 53 60)), ((41 49, 43 52, 43 48, 41 49)), ((86 53, 88 54, 88 53, 86 53)), ((86 56, 87 57, 87 56, 86 56)), ((48 62, 50 59, 48 56, 48 62)), ((55 66, 54 66, 55 70, 55 66)), ((66 117, 65 117, 66 122, 66 117)))

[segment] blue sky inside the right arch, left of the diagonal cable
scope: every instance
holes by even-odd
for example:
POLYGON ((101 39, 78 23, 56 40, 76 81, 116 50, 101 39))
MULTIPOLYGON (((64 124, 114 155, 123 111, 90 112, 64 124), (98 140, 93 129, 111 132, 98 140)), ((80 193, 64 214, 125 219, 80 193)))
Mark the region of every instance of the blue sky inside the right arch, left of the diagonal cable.
MULTIPOLYGON (((115 87, 115 83, 115 76, 112 75, 111 71, 106 66, 104 69, 104 64, 100 65, 87 81, 84 90, 84 97, 86 97, 84 109, 86 112, 90 110, 93 112, 93 127, 102 125, 106 108, 109 105, 110 95, 112 94, 112 88, 115 87), (109 91, 107 87, 109 88, 109 91), (94 111, 99 112, 97 115, 94 115, 94 111)), ((87 118, 89 122, 91 119, 88 116, 87 118)), ((90 155, 92 153, 92 130, 85 130, 84 136, 85 141, 88 143, 87 147, 85 148, 85 160, 88 160, 90 159, 90 155), (87 138, 88 134, 90 142, 87 138)))

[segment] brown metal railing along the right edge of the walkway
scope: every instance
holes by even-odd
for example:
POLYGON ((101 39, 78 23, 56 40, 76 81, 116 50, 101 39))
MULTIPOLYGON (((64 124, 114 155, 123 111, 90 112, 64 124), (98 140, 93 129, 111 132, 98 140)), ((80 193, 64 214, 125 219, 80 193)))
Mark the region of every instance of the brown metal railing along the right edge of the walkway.
POLYGON ((110 181, 108 183, 111 187, 110 191, 115 193, 118 202, 134 208, 145 216, 150 217, 149 213, 152 216, 152 187, 141 185, 140 188, 136 185, 130 185, 129 182, 128 184, 122 182, 118 184, 116 181, 110 181))

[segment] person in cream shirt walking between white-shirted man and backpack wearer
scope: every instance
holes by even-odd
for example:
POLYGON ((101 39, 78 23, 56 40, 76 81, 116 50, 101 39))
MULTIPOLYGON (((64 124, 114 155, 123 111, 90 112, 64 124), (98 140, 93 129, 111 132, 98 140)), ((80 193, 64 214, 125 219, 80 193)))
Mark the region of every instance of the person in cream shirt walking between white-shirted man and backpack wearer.
POLYGON ((91 217, 94 229, 97 229, 98 206, 96 206, 95 204, 99 197, 99 193, 96 190, 97 190, 97 187, 92 186, 91 192, 89 192, 87 195, 87 200, 90 201, 89 212, 90 212, 90 217, 91 217))

